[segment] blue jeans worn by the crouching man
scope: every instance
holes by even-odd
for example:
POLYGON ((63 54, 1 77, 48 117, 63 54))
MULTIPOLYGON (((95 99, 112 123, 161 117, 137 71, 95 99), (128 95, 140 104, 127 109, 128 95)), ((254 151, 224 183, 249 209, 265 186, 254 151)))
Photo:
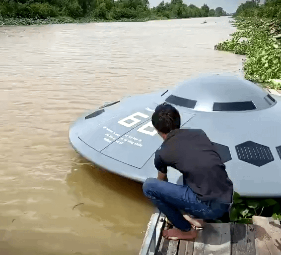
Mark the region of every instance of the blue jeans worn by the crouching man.
POLYGON ((189 186, 147 178, 142 185, 143 194, 163 212, 173 225, 189 231, 190 223, 180 210, 200 219, 217 219, 229 211, 231 204, 218 201, 200 201, 189 186))

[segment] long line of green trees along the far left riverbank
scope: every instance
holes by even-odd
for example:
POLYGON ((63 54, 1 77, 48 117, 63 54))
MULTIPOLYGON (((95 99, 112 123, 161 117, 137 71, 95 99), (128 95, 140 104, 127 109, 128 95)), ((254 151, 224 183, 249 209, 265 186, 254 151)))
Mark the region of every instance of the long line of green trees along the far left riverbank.
POLYGON ((222 7, 210 9, 183 3, 182 0, 160 2, 149 8, 148 0, 1 0, 0 16, 44 19, 68 16, 72 18, 136 19, 150 17, 190 18, 225 16, 222 7))

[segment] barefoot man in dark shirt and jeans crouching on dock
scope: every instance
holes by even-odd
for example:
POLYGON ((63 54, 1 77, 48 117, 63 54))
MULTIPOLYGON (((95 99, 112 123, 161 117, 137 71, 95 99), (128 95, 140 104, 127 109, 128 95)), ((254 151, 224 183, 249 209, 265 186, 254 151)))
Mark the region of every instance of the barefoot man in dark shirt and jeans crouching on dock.
POLYGON ((221 217, 233 203, 233 184, 211 141, 201 129, 180 129, 180 122, 172 105, 155 108, 152 124, 164 142, 154 158, 158 177, 146 179, 142 186, 144 195, 173 224, 162 232, 171 240, 194 239, 204 219, 221 217), (167 166, 183 174, 183 185, 168 182, 167 166))

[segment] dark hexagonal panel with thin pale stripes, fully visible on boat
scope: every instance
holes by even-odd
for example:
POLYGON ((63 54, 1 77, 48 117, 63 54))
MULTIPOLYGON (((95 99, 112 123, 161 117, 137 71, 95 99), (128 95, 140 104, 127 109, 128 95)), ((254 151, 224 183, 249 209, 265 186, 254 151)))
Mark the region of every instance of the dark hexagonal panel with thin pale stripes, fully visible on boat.
POLYGON ((247 141, 235 146, 238 158, 256 166, 265 165, 274 160, 269 147, 247 141))

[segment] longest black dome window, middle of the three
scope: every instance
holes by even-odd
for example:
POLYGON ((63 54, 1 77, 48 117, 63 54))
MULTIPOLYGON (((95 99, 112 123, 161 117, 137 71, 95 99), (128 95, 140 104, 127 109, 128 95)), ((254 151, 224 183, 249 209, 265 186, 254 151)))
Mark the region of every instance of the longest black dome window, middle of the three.
POLYGON ((252 101, 249 102, 214 102, 213 111, 247 111, 257 109, 252 101))

